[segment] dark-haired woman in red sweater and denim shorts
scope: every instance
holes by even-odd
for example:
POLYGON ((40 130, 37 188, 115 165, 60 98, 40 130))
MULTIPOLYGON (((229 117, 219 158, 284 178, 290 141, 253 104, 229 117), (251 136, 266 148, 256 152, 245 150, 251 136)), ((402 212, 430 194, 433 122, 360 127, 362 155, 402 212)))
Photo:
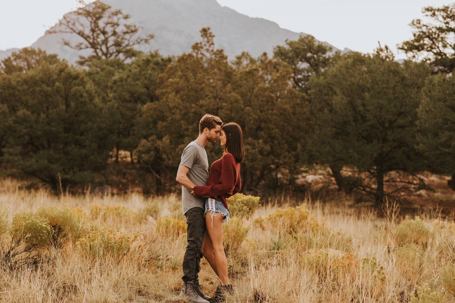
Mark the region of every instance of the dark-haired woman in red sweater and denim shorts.
POLYGON ((241 188, 240 163, 243 162, 243 134, 237 123, 223 124, 220 135, 223 156, 210 167, 207 185, 193 186, 192 194, 205 197, 206 229, 202 243, 202 255, 220 278, 220 285, 210 302, 222 301, 224 293, 232 293, 227 279, 227 260, 223 248, 223 222, 229 221, 226 199, 241 188))

